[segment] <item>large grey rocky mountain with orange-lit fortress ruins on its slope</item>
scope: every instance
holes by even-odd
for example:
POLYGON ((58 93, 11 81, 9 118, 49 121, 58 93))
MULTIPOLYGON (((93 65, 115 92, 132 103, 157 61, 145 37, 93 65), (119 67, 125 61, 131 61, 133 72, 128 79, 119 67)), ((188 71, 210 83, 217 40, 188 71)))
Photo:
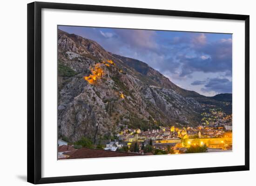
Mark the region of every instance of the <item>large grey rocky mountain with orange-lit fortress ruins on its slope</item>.
POLYGON ((111 137, 120 128, 197 125, 202 103, 222 102, 184 90, 139 60, 58 30, 58 132, 70 141, 111 137))

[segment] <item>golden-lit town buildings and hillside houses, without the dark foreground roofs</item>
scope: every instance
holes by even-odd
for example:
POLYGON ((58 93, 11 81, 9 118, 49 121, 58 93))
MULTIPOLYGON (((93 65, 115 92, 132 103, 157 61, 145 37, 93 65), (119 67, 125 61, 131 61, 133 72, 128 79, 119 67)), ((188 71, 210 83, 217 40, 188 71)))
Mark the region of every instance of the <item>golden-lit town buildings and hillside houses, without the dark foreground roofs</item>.
POLYGON ((195 145, 206 145, 208 152, 229 151, 232 150, 232 115, 212 107, 202 113, 202 124, 199 126, 159 127, 147 131, 127 128, 121 130, 117 137, 120 141, 139 141, 143 144, 152 140, 153 148, 171 148, 175 154, 184 153, 187 148, 195 145))

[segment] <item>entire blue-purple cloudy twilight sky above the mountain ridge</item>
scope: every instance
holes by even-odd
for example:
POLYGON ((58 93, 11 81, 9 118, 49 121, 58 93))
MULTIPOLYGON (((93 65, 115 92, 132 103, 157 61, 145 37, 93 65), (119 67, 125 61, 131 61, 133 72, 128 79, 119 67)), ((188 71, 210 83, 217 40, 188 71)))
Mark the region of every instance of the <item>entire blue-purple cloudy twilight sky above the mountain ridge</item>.
POLYGON ((81 26, 59 29, 141 60, 184 89, 205 96, 232 93, 231 34, 81 26))

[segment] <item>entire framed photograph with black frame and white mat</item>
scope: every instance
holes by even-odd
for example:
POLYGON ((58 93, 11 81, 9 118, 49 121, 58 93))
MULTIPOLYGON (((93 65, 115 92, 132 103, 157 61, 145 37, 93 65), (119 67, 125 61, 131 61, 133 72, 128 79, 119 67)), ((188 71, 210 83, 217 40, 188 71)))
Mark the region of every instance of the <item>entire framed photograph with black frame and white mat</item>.
POLYGON ((27 5, 27 181, 249 170, 249 15, 27 5))

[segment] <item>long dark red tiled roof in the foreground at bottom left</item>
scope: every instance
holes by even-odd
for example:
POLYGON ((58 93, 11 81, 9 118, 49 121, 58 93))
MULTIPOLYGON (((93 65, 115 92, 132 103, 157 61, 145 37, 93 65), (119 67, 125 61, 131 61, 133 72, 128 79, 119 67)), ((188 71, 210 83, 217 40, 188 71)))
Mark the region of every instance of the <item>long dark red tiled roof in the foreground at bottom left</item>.
POLYGON ((81 159, 81 158, 104 158, 104 157, 120 157, 120 156, 138 156, 138 153, 122 153, 108 150, 99 150, 91 148, 80 148, 71 154, 68 159, 81 159))

